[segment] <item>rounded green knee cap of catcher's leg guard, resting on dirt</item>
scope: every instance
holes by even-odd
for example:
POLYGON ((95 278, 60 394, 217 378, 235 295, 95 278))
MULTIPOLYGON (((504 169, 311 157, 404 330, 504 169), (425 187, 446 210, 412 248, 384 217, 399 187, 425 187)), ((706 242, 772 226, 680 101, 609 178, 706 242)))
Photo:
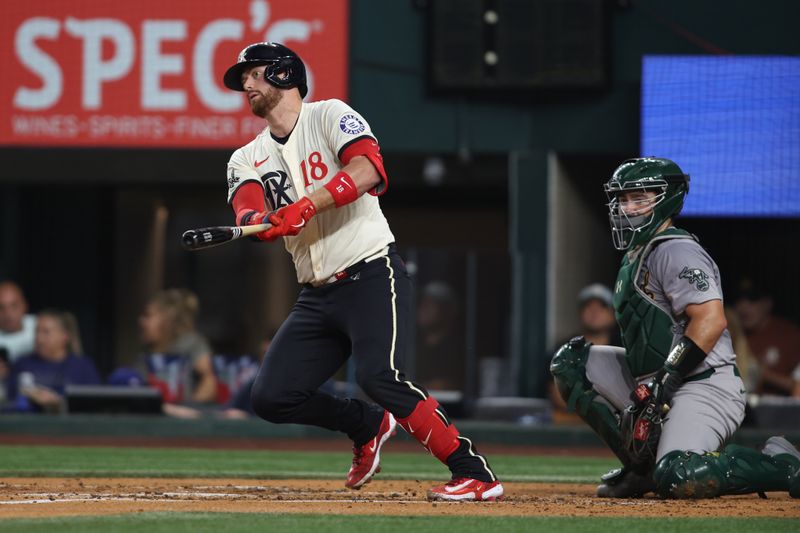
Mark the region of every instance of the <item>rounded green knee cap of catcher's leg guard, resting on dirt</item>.
POLYGON ((672 451, 658 461, 653 479, 662 498, 714 498, 723 490, 725 472, 715 454, 672 451))

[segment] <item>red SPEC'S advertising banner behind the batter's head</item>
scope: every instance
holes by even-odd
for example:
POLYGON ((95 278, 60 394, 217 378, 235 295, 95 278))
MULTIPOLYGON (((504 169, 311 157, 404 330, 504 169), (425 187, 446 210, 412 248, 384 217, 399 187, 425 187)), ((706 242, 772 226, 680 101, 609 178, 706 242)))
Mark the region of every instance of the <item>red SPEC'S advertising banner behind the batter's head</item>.
POLYGON ((347 0, 39 0, 0 7, 0 145, 238 147, 261 131, 222 84, 246 45, 347 96, 347 0))

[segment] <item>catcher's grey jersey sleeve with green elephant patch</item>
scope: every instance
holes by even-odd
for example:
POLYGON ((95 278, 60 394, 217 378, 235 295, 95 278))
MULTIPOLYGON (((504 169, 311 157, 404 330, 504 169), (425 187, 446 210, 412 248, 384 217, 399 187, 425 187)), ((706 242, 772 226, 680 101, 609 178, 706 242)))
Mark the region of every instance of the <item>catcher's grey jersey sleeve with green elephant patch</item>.
POLYGON ((650 272, 675 316, 682 315, 687 305, 722 300, 717 265, 696 241, 668 241, 653 251, 651 259, 650 272))

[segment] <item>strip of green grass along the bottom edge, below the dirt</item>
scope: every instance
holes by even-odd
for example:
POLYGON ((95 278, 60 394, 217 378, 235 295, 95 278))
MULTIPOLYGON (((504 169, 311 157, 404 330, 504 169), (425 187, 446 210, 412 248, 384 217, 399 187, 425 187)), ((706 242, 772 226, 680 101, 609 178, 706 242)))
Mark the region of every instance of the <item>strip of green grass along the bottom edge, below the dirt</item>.
POLYGON ((319 531, 325 533, 398 532, 483 533, 486 531, 543 531, 625 533, 702 531, 703 533, 779 533, 796 531, 797 523, 780 518, 569 518, 569 517, 463 517, 463 516, 334 516, 236 513, 139 513, 102 517, 58 517, 0 521, 0 531, 59 533, 92 531, 143 531, 196 533, 198 531, 319 531))

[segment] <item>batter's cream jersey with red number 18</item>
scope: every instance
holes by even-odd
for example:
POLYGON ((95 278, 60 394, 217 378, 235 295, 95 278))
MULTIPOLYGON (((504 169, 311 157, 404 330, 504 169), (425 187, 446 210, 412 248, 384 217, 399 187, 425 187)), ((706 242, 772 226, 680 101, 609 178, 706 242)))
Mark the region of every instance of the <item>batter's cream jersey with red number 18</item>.
MULTIPOLYGON (((264 186, 268 208, 294 203, 328 183, 344 166, 339 159, 344 149, 365 137, 375 139, 367 121, 344 102, 303 103, 285 144, 276 141, 267 127, 233 153, 228 162, 228 203, 248 181, 264 186)), ((297 280, 314 285, 384 253, 393 241, 378 198, 372 194, 319 213, 299 235, 284 237, 297 280)))

